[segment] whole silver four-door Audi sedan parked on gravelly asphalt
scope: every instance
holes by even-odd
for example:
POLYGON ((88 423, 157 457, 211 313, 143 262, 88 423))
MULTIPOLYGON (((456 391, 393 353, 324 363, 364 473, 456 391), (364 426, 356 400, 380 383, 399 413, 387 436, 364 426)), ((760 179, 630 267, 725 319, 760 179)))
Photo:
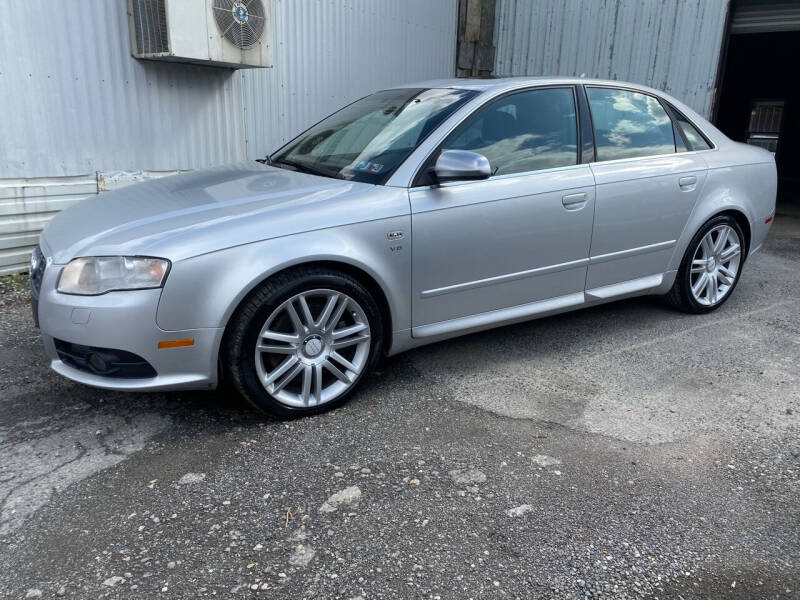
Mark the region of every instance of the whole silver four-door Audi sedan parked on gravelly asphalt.
POLYGON ((705 313, 775 208, 772 155, 638 85, 380 91, 259 161, 59 214, 31 259, 58 373, 115 390, 228 377, 280 417, 381 355, 630 296, 705 313))

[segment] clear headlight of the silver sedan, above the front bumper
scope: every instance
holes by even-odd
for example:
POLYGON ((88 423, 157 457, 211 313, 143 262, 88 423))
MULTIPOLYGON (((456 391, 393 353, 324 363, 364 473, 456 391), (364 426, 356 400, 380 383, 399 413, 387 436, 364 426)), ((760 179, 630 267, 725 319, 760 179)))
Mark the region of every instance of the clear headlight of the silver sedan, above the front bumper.
POLYGON ((91 256, 76 258, 64 267, 58 291, 64 294, 96 296, 114 290, 161 287, 169 261, 144 256, 91 256))

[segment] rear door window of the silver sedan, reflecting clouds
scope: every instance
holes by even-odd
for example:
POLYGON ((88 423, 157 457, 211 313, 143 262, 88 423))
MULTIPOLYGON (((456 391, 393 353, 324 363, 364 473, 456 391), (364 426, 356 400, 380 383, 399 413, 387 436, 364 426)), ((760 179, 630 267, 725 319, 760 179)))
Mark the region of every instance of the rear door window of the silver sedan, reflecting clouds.
POLYGON ((636 158, 675 152, 672 120, 647 94, 587 87, 594 123, 597 160, 636 158))

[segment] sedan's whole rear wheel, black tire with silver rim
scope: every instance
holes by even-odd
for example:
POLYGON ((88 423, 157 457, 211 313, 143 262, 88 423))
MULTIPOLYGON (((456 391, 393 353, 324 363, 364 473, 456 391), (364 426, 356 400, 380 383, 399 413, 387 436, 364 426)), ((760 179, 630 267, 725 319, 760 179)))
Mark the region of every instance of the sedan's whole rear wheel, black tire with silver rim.
POLYGON ((665 296, 667 303, 692 314, 718 309, 731 297, 739 282, 746 246, 744 232, 733 217, 719 215, 706 221, 686 248, 675 283, 665 296), (717 247, 720 241, 717 236, 722 232, 727 238, 717 247), (705 245, 706 242, 710 246, 705 245))

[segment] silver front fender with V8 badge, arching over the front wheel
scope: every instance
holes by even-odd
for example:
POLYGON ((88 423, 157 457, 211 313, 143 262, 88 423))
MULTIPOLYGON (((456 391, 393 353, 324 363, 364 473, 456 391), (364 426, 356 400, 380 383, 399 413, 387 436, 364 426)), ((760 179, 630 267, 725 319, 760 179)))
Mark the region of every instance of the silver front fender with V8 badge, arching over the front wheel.
POLYGON ((242 299, 288 267, 336 261, 361 269, 383 290, 393 331, 410 327, 411 220, 407 215, 274 238, 173 264, 156 321, 168 331, 225 327, 242 299), (390 241, 388 232, 403 232, 390 241), (191 323, 191 325, 189 325, 191 323))

